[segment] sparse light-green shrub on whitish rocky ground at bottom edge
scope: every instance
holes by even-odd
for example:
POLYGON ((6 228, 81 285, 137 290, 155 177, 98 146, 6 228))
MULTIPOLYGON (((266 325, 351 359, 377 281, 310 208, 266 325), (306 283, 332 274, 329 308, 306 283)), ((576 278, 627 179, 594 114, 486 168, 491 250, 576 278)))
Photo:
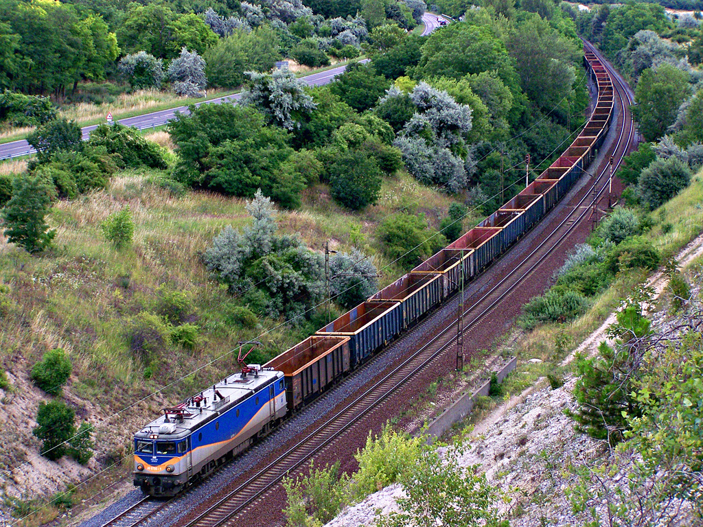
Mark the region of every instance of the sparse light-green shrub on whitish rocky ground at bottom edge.
POLYGON ((499 523, 495 502, 498 490, 477 467, 463 469, 461 452, 447 450, 443 456, 430 448, 418 457, 403 479, 406 497, 399 497, 398 512, 377 516, 382 527, 504 526, 499 523))

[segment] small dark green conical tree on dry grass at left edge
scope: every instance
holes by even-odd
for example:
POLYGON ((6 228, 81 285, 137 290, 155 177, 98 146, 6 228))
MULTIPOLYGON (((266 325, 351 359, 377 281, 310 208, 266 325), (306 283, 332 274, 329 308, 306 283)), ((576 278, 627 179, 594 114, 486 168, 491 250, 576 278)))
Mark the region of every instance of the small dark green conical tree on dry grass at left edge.
POLYGON ((30 253, 49 247, 56 230, 49 230, 44 218, 55 197, 56 189, 44 176, 15 178, 12 198, 1 213, 8 242, 30 253))

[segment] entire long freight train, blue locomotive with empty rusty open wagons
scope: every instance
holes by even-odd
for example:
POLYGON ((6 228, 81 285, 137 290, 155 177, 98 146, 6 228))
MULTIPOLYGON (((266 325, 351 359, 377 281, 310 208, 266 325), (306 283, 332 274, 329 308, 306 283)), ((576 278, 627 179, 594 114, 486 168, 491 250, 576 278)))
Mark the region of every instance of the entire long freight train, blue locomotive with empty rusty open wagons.
POLYGON ((598 100, 559 159, 475 228, 315 335, 165 408, 134 434, 134 486, 173 496, 206 476, 399 337, 454 294, 462 275, 472 280, 538 223, 595 159, 613 119, 609 74, 591 52, 584 62, 598 100))

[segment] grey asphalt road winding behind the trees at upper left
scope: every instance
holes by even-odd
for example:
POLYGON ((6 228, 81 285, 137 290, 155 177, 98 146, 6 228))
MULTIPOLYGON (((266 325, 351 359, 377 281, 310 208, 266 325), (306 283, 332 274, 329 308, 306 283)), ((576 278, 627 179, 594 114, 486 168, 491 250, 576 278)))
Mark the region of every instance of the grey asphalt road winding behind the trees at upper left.
MULTIPOLYGON (((423 23, 425 25, 425 30, 423 31, 423 35, 427 35, 432 33, 434 30, 439 27, 439 22, 437 20, 437 17, 434 15, 430 15, 430 13, 425 13, 423 15, 423 23)), ((362 63, 367 63, 368 59, 362 60, 362 63)), ((339 74, 344 73, 344 70, 347 69, 347 66, 340 66, 340 67, 335 67, 332 70, 327 70, 324 72, 319 72, 319 73, 314 73, 311 75, 308 75, 307 77, 302 77, 304 82, 306 82, 309 86, 321 86, 323 84, 329 84, 332 82, 332 80, 339 74)), ((195 103, 195 106, 200 106, 201 104, 219 104, 223 102, 231 103, 233 101, 239 100, 242 97, 242 93, 235 93, 234 95, 231 96, 226 96, 226 97, 220 97, 217 99, 211 99, 211 100, 206 100, 203 101, 202 103, 195 103)), ((140 130, 147 129, 147 128, 154 128, 155 126, 162 126, 163 124, 166 124, 169 122, 170 119, 174 118, 174 114, 176 112, 181 112, 183 114, 188 113, 188 107, 187 106, 179 106, 178 108, 170 108, 169 110, 161 110, 160 112, 153 112, 153 113, 147 113, 143 115, 137 115, 136 117, 128 117, 127 119, 120 119, 119 121, 116 120, 115 122, 119 122, 120 124, 124 124, 125 126, 134 126, 135 128, 138 128, 140 130)), ((98 127, 97 124, 94 124, 93 126, 85 126, 82 128, 83 132, 83 139, 86 140, 91 131, 96 129, 98 127)), ((34 153, 35 150, 30 146, 29 143, 25 139, 21 139, 20 141, 12 141, 11 143, 4 143, 0 145, 0 160, 6 160, 11 157, 18 157, 22 155, 27 155, 27 154, 32 154, 34 153)))

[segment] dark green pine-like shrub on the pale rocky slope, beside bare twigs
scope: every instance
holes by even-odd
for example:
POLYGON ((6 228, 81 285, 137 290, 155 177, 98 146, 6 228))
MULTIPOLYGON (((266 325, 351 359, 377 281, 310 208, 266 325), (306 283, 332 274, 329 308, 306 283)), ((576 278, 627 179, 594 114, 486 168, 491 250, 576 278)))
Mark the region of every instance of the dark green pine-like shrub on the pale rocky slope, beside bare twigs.
POLYGON ((640 413, 632 382, 639 361, 638 342, 650 333, 650 321, 636 301, 616 318, 617 323, 609 328, 610 336, 617 337, 614 346, 603 341, 598 357, 579 360, 576 370, 581 378, 574 386, 579 409, 569 412, 579 430, 610 445, 624 439, 627 416, 640 413))

